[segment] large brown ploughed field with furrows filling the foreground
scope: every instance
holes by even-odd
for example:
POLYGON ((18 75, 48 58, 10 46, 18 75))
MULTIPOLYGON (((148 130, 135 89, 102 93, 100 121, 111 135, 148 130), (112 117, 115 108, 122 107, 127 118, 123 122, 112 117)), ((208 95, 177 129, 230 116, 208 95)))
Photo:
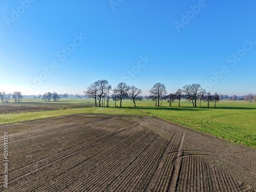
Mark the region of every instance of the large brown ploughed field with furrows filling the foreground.
POLYGON ((4 132, 9 139, 6 191, 233 192, 256 187, 253 148, 154 117, 78 114, 2 125, 4 132))

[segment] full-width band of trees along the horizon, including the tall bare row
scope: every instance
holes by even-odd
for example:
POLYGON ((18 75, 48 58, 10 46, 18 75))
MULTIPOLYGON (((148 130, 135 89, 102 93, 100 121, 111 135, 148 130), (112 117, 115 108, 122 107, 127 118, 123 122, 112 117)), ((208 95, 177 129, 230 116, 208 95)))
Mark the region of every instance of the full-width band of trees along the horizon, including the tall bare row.
POLYGON ((206 101, 209 106, 210 102, 214 102, 216 106, 216 102, 220 100, 246 100, 246 101, 256 101, 256 95, 248 94, 244 96, 237 95, 224 95, 210 92, 206 92, 205 89, 201 87, 200 84, 194 83, 185 85, 182 89, 178 89, 174 93, 167 93, 164 83, 156 83, 153 85, 151 90, 148 91, 150 95, 142 96, 142 90, 138 89, 135 86, 129 86, 124 82, 120 82, 117 84, 115 88, 109 84, 108 80, 98 80, 92 83, 86 91, 84 91, 84 95, 79 94, 58 94, 56 92, 47 92, 44 94, 38 95, 22 95, 21 92, 13 92, 6 94, 5 92, 0 92, 0 99, 2 102, 9 102, 13 99, 15 102, 22 102, 23 98, 34 98, 34 99, 42 99, 46 102, 59 101, 61 98, 79 98, 83 97, 92 98, 95 101, 95 106, 109 106, 109 100, 112 99, 115 101, 115 106, 117 106, 117 101, 120 101, 120 106, 122 106, 123 99, 130 99, 133 101, 134 106, 136 107, 136 101, 142 99, 151 99, 154 100, 156 106, 161 106, 163 101, 169 102, 169 106, 172 105, 174 100, 179 101, 181 99, 187 99, 193 103, 193 106, 197 106, 197 103, 202 101, 206 101))

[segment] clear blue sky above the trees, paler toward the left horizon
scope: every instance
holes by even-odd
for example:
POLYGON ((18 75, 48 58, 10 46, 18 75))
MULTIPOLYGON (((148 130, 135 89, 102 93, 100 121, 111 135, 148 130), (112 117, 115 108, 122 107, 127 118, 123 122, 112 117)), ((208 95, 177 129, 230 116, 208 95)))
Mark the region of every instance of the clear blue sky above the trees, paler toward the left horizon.
POLYGON ((0 91, 82 94, 106 79, 256 94, 255 0, 119 2, 0 1, 0 91))

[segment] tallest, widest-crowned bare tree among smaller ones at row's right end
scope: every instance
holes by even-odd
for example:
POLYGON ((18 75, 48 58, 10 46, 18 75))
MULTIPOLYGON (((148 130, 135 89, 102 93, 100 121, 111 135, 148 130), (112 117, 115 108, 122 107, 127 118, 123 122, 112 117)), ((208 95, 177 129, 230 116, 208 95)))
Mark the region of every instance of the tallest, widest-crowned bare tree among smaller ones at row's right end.
POLYGON ((189 84, 183 87, 183 93, 187 99, 190 99, 193 106, 197 106, 197 99, 199 98, 200 92, 202 91, 200 84, 189 84))

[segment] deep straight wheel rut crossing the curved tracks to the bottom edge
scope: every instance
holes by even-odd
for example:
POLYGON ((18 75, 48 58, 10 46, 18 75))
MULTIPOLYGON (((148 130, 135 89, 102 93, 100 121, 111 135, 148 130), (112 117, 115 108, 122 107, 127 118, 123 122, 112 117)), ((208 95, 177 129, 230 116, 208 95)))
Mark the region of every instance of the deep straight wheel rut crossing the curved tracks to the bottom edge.
POLYGON ((167 191, 175 191, 176 190, 176 186, 177 186, 177 182, 178 182, 178 177, 179 177, 179 173, 180 173, 180 164, 181 164, 181 149, 183 146, 183 142, 184 142, 184 137, 185 137, 185 133, 182 134, 180 143, 179 143, 179 148, 178 148, 178 154, 177 154, 177 158, 174 159, 173 162, 173 173, 172 176, 170 178, 169 184, 168 184, 168 189, 167 191))

